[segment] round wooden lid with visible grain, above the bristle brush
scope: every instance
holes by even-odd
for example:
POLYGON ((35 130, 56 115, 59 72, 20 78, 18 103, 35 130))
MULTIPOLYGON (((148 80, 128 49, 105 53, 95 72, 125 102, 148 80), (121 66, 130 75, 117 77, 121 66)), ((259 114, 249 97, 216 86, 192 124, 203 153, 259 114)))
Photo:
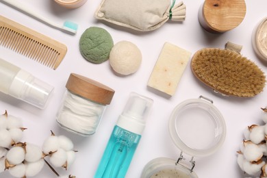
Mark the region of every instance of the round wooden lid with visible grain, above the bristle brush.
POLYGON ((205 0, 199 13, 199 22, 211 32, 225 32, 242 23, 246 15, 244 0, 205 0))

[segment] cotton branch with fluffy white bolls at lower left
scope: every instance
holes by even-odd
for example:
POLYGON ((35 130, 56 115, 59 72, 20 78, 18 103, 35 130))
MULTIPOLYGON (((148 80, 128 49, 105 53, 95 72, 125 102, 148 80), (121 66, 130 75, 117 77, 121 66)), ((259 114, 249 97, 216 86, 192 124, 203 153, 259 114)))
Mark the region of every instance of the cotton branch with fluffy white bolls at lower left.
MULTIPOLYGON (((36 176, 44 167, 49 165, 53 173, 60 177, 55 169, 44 160, 49 157, 55 167, 69 168, 75 160, 73 142, 66 136, 51 136, 44 141, 42 149, 29 142, 21 142, 23 127, 20 118, 5 114, 0 116, 0 173, 7 170, 13 177, 27 178, 36 176)), ((68 175, 66 178, 75 178, 68 175)))

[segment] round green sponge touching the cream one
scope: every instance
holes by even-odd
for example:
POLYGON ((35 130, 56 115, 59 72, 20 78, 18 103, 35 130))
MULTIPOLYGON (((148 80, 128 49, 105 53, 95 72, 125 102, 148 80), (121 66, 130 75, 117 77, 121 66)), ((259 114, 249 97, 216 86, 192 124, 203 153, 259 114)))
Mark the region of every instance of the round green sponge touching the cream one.
POLYGON ((108 60, 113 45, 112 36, 101 27, 89 27, 79 39, 81 55, 94 64, 108 60))

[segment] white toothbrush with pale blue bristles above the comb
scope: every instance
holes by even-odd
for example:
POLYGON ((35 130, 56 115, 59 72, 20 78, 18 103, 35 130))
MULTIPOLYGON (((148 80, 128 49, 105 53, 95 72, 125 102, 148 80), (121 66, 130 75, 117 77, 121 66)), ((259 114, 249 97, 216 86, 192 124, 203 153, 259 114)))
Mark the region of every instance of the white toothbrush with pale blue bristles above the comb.
POLYGON ((59 29, 61 31, 64 31, 67 34, 76 34, 78 25, 76 23, 73 23, 71 21, 65 21, 63 25, 59 25, 58 23, 54 23, 53 21, 49 20, 48 18, 45 18, 44 16, 38 14, 37 12, 34 12, 34 10, 31 10, 31 8, 27 7, 20 1, 16 0, 0 0, 8 5, 12 5, 18 10, 22 10, 23 12, 26 12, 27 14, 34 16, 35 18, 38 18, 43 23, 46 23, 47 25, 59 29))

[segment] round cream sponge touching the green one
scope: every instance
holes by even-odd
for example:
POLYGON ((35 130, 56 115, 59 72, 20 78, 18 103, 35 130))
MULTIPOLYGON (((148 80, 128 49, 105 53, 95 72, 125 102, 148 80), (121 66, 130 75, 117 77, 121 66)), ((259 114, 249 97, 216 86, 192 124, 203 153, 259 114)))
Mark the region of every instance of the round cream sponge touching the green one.
POLYGON ((117 42, 110 51, 110 66, 121 75, 135 73, 141 62, 142 53, 132 42, 117 42))

